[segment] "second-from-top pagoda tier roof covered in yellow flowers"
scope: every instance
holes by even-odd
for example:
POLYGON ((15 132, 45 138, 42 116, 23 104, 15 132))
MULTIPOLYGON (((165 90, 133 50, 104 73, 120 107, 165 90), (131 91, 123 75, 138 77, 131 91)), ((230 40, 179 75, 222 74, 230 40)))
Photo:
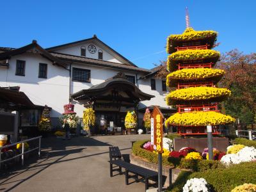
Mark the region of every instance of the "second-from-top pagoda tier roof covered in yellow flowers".
POLYGON ((211 63, 211 67, 213 67, 219 58, 220 52, 211 49, 178 51, 168 56, 167 70, 170 72, 177 70, 178 64, 196 65, 211 63))

